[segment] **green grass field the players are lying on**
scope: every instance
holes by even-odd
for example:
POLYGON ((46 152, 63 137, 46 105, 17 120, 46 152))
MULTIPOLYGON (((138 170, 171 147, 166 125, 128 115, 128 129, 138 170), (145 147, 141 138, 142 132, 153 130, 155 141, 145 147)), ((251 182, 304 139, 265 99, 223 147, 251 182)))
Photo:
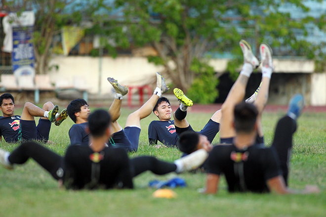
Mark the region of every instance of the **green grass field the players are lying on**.
MULTIPOLYGON (((129 109, 122 110, 119 123, 124 126, 129 109)), ((15 114, 21 114, 17 110, 15 114)), ((187 120, 195 130, 200 130, 211 114, 189 113, 187 120)), ((265 113, 263 127, 265 142, 271 144, 274 127, 281 113, 265 113)), ((147 128, 156 117, 142 120, 138 155, 154 155, 173 161, 180 157, 174 148, 155 149, 148 145, 147 128)), ((63 190, 56 181, 35 161, 16 166, 9 171, 0 167, 0 217, 325 217, 326 216, 326 114, 305 113, 298 120, 298 130, 293 139, 289 186, 303 189, 305 185, 318 185, 320 194, 276 195, 233 193, 226 190, 224 178, 216 195, 202 195, 198 188, 205 185, 205 174, 185 173, 155 176, 149 172, 134 179, 133 190, 63 190), (153 198, 151 180, 166 180, 174 176, 184 178, 185 188, 175 188, 175 199, 153 198)), ((54 144, 44 146, 63 155, 69 145, 69 119, 60 127, 52 124, 50 140, 54 144)), ((219 135, 214 142, 218 141, 219 135)), ((12 151, 17 144, 0 142, 0 148, 12 151)))

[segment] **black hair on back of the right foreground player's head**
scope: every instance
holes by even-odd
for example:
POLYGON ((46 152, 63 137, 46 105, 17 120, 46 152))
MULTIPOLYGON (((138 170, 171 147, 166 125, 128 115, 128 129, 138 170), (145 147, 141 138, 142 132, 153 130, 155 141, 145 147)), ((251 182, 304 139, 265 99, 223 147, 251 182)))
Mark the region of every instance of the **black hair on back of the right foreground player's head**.
POLYGON ((241 102, 234 108, 234 126, 236 132, 249 133, 256 123, 258 110, 252 103, 241 102))

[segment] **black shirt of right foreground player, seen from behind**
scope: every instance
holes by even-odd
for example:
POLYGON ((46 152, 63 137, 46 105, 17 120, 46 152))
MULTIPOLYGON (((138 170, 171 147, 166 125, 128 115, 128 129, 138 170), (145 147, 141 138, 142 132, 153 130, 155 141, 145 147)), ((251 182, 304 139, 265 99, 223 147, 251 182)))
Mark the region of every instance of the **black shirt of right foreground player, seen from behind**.
POLYGON ((225 175, 230 192, 268 192, 266 181, 282 174, 274 148, 250 146, 238 150, 217 145, 208 156, 208 173, 225 175))

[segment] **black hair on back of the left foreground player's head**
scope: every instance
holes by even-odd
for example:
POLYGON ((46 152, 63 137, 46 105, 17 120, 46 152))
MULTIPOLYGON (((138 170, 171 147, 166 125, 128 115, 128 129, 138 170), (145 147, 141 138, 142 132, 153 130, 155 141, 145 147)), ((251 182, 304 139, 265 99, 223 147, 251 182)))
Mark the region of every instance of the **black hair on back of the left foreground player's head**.
POLYGON ((111 115, 103 109, 96 110, 88 116, 88 128, 93 137, 103 136, 110 123, 111 115))

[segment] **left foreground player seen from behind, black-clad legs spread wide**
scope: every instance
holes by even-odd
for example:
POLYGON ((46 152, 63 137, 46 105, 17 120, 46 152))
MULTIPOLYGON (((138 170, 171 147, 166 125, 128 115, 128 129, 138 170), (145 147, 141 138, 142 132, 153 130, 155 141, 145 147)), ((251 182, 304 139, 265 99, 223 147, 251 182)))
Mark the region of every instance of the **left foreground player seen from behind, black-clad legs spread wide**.
POLYGON ((13 169, 14 164, 23 164, 31 157, 66 188, 133 188, 132 178, 144 171, 158 175, 181 173, 201 165, 208 155, 199 150, 174 163, 153 156, 129 159, 124 149, 106 147, 112 127, 107 111, 90 114, 88 125, 89 146, 69 146, 62 157, 35 142, 26 142, 11 154, 0 149, 0 164, 13 169))

